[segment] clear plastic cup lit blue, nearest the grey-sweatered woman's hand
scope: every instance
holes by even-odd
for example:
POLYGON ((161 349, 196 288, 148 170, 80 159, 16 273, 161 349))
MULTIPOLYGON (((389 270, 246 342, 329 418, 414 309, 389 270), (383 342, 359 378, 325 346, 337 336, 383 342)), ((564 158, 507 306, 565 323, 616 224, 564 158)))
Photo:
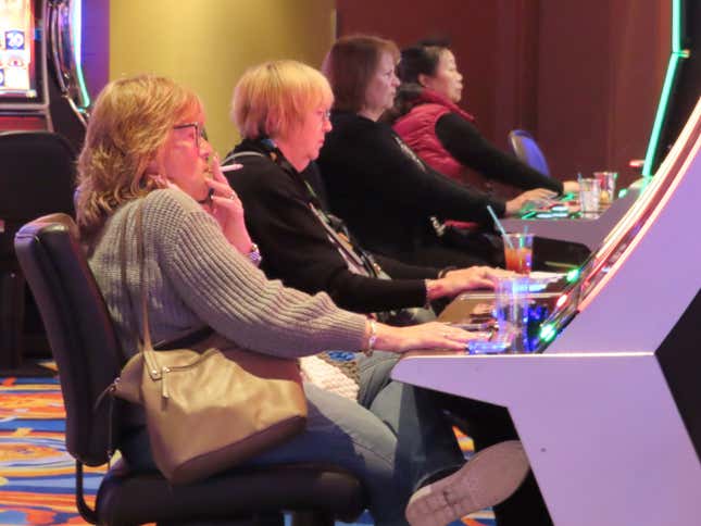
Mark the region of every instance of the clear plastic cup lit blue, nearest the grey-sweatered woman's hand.
POLYGON ((527 276, 510 277, 500 279, 495 288, 498 338, 510 343, 506 352, 527 350, 528 284, 527 276))

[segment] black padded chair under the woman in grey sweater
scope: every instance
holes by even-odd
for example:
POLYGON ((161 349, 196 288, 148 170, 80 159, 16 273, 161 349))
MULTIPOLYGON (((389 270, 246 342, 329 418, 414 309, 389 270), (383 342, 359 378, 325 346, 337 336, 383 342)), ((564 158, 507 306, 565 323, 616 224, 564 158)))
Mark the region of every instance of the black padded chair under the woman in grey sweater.
POLYGON ((159 473, 112 467, 98 490, 96 509, 83 494, 83 466, 108 462, 121 436, 124 402, 95 402, 123 363, 112 321, 65 214, 40 217, 15 236, 15 250, 37 300, 59 366, 66 410, 66 449, 76 459, 76 501, 93 524, 220 524, 236 518, 283 525, 283 511, 296 525, 352 522, 364 509, 363 488, 352 475, 320 465, 241 469, 186 486, 171 486, 159 473))

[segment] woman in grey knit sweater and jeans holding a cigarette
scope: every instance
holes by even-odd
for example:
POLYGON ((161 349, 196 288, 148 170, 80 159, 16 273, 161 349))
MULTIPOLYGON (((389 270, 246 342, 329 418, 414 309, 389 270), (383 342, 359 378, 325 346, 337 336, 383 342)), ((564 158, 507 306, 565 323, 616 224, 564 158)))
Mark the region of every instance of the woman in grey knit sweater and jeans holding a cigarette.
MULTIPOLYGON (((243 208, 206 141, 202 104, 173 80, 145 75, 109 84, 96 101, 78 172, 78 226, 125 356, 142 335, 134 312, 139 209, 154 341, 216 334, 230 348, 296 360, 324 349, 459 350, 473 337, 437 323, 389 327, 338 309, 325 293, 266 279, 243 208)), ((310 384, 304 391, 305 430, 246 464, 337 465, 362 481, 376 524, 404 524, 411 488, 396 468, 391 430, 353 401, 310 384)), ((155 469, 145 427, 130 428, 118 447, 132 468, 155 469)))

